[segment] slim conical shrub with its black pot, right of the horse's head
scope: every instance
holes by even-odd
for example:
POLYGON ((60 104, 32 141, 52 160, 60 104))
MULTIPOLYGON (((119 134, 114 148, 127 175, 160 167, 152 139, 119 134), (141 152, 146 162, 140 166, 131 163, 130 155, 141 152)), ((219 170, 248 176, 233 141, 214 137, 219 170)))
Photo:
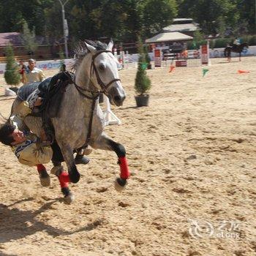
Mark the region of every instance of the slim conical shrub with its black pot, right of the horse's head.
POLYGON ((135 96, 137 107, 148 106, 149 95, 147 92, 151 88, 151 80, 146 75, 146 60, 143 46, 139 44, 140 57, 138 60, 138 70, 135 78, 135 91, 138 94, 135 96))

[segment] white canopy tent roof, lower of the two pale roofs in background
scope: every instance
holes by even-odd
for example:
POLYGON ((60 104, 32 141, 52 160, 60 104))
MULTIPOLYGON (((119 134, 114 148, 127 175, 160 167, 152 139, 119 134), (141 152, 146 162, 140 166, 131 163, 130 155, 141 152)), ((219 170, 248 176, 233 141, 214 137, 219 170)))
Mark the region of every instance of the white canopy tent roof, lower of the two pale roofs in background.
POLYGON ((187 41, 191 40, 193 37, 187 36, 187 34, 182 34, 180 32, 165 32, 157 34, 154 37, 146 39, 147 43, 153 42, 171 42, 171 41, 187 41))

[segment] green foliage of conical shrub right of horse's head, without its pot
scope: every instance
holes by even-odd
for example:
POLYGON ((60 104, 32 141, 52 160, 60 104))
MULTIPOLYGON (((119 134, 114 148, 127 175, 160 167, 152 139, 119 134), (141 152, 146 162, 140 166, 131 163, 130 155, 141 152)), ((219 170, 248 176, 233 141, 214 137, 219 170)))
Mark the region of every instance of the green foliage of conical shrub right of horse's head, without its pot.
POLYGON ((145 66, 145 53, 143 51, 142 42, 139 39, 139 61, 138 61, 138 70, 135 78, 135 91, 139 96, 146 94, 151 88, 151 80, 146 75, 146 66, 145 66))

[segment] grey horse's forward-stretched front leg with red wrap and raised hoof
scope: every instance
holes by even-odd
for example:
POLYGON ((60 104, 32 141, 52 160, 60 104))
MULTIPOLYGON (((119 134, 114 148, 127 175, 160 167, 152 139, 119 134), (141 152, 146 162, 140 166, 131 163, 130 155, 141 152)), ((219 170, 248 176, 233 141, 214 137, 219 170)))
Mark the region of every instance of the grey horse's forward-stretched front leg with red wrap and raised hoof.
POLYGON ((127 178, 130 176, 124 146, 120 143, 116 143, 108 138, 107 135, 103 134, 97 140, 95 140, 94 143, 91 143, 91 147, 116 152, 118 164, 120 166, 120 178, 116 179, 115 187, 118 191, 124 189, 125 185, 127 184, 127 178))

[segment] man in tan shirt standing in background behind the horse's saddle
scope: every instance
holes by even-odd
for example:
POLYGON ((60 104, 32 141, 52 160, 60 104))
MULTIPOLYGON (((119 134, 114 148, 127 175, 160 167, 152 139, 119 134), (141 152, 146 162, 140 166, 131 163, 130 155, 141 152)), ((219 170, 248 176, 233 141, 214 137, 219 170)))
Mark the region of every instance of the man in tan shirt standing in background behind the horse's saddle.
POLYGON ((36 61, 34 59, 29 59, 29 67, 26 69, 26 72, 24 72, 24 78, 22 80, 24 84, 45 80, 45 74, 41 69, 37 69, 35 65, 36 61))

